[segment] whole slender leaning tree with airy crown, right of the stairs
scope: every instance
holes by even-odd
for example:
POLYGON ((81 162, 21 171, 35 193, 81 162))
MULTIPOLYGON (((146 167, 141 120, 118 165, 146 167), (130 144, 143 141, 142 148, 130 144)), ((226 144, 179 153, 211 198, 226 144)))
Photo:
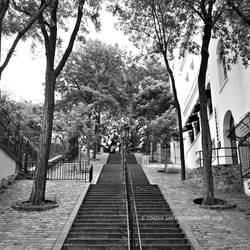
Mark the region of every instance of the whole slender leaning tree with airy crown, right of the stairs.
MULTIPOLYGON (((110 0, 110 2, 115 2, 110 0)), ((185 179, 185 156, 182 134, 181 108, 177 96, 175 77, 171 68, 174 50, 178 46, 186 15, 179 6, 179 1, 162 0, 126 0, 121 4, 111 5, 111 10, 119 16, 119 25, 128 34, 134 44, 147 54, 160 56, 169 75, 175 108, 178 116, 179 142, 181 155, 181 178, 185 179)), ((189 46, 196 50, 196 46, 189 46)))

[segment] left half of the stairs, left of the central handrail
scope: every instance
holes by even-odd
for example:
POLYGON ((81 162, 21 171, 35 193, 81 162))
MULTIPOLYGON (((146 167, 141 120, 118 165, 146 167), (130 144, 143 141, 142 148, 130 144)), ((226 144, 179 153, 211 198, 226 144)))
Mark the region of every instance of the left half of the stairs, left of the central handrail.
POLYGON ((128 249, 126 196, 118 155, 90 185, 62 249, 128 249))

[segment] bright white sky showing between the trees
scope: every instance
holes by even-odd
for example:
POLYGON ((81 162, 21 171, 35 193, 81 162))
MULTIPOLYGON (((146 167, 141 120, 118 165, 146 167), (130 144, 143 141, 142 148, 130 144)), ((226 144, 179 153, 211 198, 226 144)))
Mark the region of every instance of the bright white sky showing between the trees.
MULTIPOLYGON (((107 44, 118 43, 126 50, 135 51, 132 43, 121 31, 114 28, 115 18, 103 9, 101 11, 101 32, 90 27, 89 38, 99 39, 107 44)), ((11 39, 3 41, 3 50, 11 46, 11 39)), ((7 91, 11 99, 42 103, 44 100, 45 54, 43 47, 31 52, 31 40, 20 42, 13 58, 3 72, 0 89, 7 91)))

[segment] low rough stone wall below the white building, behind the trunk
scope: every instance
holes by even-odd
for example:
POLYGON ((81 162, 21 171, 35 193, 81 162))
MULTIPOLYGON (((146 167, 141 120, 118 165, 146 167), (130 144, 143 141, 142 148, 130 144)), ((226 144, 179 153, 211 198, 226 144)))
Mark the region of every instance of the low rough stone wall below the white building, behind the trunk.
MULTIPOLYGON (((240 165, 213 166, 214 190, 219 192, 241 192, 240 165)), ((195 168, 187 173, 187 181, 196 186, 203 187, 202 168, 195 168)))

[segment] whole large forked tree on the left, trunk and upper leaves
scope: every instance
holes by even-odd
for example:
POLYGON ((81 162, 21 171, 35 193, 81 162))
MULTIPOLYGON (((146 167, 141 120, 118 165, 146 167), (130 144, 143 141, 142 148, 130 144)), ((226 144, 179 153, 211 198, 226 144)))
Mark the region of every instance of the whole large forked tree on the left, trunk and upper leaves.
MULTIPOLYGON (((32 16, 37 9, 45 3, 45 0, 38 2, 19 1, 17 8, 24 16, 32 16)), ((30 34, 34 39, 44 42, 46 55, 45 72, 45 100, 42 122, 42 136, 39 149, 38 166, 33 182, 33 188, 30 196, 30 203, 34 205, 41 204, 45 200, 46 188, 46 169, 51 144, 54 99, 56 80, 61 73, 77 37, 82 19, 86 22, 89 17, 96 20, 98 17, 98 0, 79 0, 74 2, 52 0, 50 6, 39 16, 38 22, 30 29, 30 34), (83 6, 87 5, 85 9, 83 6), (58 51, 62 44, 62 39, 58 35, 59 28, 67 31, 66 19, 72 16, 76 17, 73 31, 70 35, 68 45, 64 52, 58 51), (84 16, 84 18, 82 18, 84 16), (57 53, 59 52, 59 53, 57 53), (57 63, 57 65, 56 65, 57 63)), ((98 24, 98 22, 96 22, 98 24)), ((82 31, 86 31, 86 25, 82 26, 82 31)))

